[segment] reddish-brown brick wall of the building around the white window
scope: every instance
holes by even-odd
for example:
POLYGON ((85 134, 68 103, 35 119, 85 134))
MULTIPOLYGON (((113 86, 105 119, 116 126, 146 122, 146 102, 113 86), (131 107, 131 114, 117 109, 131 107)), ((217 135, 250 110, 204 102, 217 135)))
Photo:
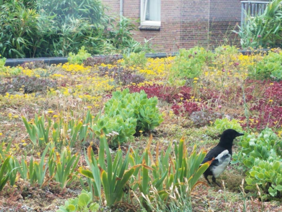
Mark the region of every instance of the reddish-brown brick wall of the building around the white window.
MULTIPOLYGON (((120 0, 102 0, 102 3, 111 7, 108 14, 119 17, 120 0)), ((138 27, 140 0, 123 0, 123 16, 135 20, 138 27)), ((240 18, 239 0, 161 0, 160 31, 137 30, 134 38, 139 42, 151 39, 153 49, 159 52, 195 45, 216 46, 228 39, 226 29, 233 29, 240 18)))

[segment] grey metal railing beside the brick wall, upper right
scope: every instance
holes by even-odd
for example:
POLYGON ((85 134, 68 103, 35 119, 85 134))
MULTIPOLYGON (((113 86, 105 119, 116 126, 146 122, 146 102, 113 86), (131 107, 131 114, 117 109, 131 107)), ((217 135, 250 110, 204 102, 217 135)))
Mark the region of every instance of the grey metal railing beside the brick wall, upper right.
POLYGON ((246 14, 261 15, 268 3, 269 1, 241 1, 241 27, 244 26, 246 14))

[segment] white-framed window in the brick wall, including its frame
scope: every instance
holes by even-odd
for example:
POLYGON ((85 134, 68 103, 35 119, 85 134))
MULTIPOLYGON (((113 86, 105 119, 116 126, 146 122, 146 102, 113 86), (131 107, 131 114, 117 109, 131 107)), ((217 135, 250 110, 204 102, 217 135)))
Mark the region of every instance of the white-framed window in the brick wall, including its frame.
POLYGON ((141 0, 141 25, 161 25, 160 0, 141 0))

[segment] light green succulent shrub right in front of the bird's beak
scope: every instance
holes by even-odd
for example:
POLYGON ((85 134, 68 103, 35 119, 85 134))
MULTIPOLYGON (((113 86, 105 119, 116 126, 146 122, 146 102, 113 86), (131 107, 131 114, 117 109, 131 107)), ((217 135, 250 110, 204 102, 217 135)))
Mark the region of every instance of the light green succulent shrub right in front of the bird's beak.
POLYGON ((282 140, 266 128, 259 135, 245 135, 238 143, 241 150, 232 163, 243 163, 246 171, 246 189, 255 189, 257 183, 271 196, 282 191, 282 140))

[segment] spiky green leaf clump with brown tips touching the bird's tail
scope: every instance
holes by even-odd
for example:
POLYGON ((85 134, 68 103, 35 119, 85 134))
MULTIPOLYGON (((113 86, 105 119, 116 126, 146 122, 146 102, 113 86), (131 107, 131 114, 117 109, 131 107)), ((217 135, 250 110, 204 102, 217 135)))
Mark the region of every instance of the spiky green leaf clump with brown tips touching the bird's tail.
MULTIPOLYGON (((130 160, 132 166, 142 163, 142 167, 138 169, 139 172, 135 172, 134 176, 142 192, 142 205, 149 211, 152 210, 150 202, 155 198, 162 203, 168 203, 170 190, 183 191, 184 193, 178 196, 179 199, 183 196, 189 199, 195 186, 205 184, 199 181, 199 178, 211 163, 209 161, 201 165, 206 151, 197 154, 196 147, 194 147, 192 153, 188 153, 183 139, 180 140, 179 145, 175 144, 174 148, 170 143, 167 150, 162 150, 160 153, 157 145, 156 150, 152 150, 156 154, 154 159, 150 151, 151 142, 152 136, 142 156, 133 153, 130 160)), ((131 182, 131 184, 135 183, 131 182)), ((136 189, 136 184, 132 186, 132 189, 133 191, 136 189)))

